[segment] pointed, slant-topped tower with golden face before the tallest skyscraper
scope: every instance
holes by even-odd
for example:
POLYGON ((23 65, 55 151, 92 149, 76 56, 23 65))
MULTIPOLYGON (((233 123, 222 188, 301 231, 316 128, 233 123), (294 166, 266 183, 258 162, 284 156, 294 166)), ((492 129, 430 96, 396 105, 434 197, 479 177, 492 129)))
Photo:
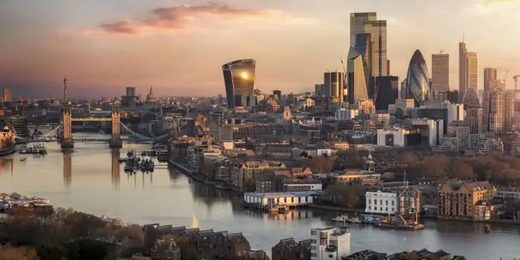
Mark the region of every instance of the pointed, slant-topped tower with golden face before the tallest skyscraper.
POLYGON ((358 50, 351 47, 347 58, 347 102, 355 104, 358 100, 368 99, 366 78, 364 75, 363 58, 358 50))

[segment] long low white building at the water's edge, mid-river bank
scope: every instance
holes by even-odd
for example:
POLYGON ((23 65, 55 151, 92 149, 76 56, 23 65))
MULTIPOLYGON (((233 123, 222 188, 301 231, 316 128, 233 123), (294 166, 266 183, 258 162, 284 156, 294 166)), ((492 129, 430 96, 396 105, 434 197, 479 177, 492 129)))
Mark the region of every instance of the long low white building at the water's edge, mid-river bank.
POLYGON ((243 207, 268 212, 286 212, 296 207, 304 207, 313 203, 322 192, 270 192, 243 194, 243 207))

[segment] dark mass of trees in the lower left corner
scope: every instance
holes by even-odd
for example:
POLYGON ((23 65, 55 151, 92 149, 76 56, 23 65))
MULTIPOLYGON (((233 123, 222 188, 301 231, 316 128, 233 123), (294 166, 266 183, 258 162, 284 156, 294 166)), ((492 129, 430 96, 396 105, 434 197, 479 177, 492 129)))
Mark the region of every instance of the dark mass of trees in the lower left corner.
POLYGON ((107 225, 96 216, 62 208, 44 214, 21 211, 0 226, 0 244, 12 245, 0 250, 0 259, 117 259, 142 252, 143 240, 139 225, 107 225))

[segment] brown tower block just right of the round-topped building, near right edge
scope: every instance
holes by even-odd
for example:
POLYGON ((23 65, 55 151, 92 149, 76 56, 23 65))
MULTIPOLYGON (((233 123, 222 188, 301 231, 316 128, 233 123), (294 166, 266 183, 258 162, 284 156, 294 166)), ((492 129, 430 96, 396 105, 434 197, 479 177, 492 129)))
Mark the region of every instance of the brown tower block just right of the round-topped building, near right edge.
POLYGON ((490 91, 488 111, 484 113, 484 129, 501 136, 505 133, 505 91, 493 89, 490 91))

